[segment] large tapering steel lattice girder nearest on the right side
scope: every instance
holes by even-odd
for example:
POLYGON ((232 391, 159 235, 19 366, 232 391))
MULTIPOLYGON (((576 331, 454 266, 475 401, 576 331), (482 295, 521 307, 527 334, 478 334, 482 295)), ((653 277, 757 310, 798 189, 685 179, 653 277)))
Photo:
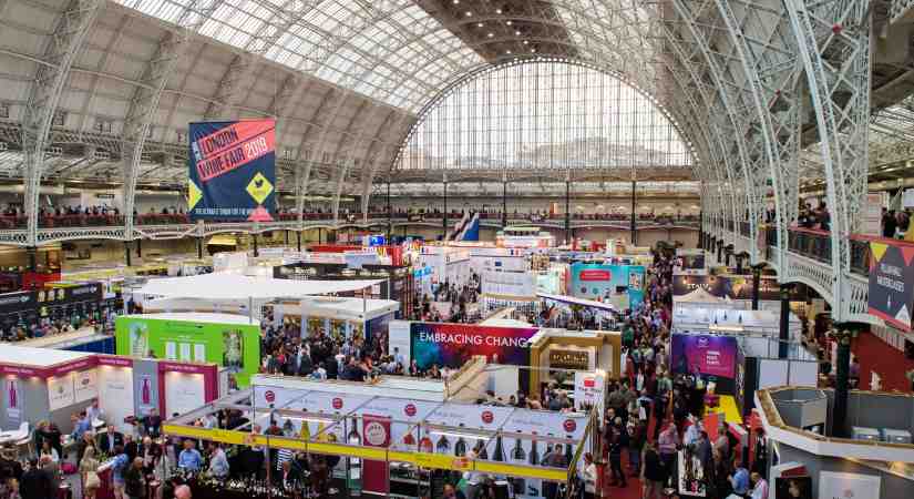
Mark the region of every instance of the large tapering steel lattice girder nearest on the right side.
POLYGON ((803 63, 825 169, 834 268, 833 318, 844 299, 850 235, 860 226, 867 189, 870 131, 870 16, 866 2, 783 0, 803 63))

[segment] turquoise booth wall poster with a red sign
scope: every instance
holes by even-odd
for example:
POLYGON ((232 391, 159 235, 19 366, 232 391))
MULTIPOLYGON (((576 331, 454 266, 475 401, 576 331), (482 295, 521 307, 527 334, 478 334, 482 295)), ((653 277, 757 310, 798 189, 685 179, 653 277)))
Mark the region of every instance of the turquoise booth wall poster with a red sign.
POLYGON ((630 307, 644 301, 645 267, 643 265, 606 265, 575 263, 571 266, 571 292, 578 298, 610 301, 613 295, 627 293, 630 307))

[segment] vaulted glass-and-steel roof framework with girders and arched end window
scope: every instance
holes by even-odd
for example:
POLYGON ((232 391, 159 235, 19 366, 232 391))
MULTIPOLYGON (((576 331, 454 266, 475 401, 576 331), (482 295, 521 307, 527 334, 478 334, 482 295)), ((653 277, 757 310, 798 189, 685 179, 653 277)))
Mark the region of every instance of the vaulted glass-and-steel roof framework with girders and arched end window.
POLYGON ((17 244, 63 237, 39 227, 39 201, 76 181, 123 185, 124 230, 103 236, 143 237, 136 191, 184 184, 188 121, 276 116, 277 186, 299 213, 328 196, 335 221, 356 194, 368 222, 376 179, 522 193, 573 171, 583 192, 633 166, 689 170, 704 233, 756 263, 769 212, 785 242, 800 186, 820 182, 834 269, 785 244, 768 261, 843 320, 867 173, 914 156, 910 0, 0 0, 0 14, 17 244), (521 96, 533 104, 507 105, 521 96), (626 129, 653 135, 626 150, 626 129))

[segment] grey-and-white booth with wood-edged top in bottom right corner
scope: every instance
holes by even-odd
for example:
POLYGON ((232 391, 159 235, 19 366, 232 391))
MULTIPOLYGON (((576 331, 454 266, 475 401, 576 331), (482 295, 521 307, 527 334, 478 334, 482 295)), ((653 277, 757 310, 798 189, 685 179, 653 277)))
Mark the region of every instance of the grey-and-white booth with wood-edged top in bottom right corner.
MULTIPOLYGON (((914 490, 914 397, 851 390, 846 438, 834 436, 835 394, 778 386, 756 394, 772 464, 771 490, 801 498, 901 499, 914 490)), ((780 497, 780 496, 778 496, 780 497)))

